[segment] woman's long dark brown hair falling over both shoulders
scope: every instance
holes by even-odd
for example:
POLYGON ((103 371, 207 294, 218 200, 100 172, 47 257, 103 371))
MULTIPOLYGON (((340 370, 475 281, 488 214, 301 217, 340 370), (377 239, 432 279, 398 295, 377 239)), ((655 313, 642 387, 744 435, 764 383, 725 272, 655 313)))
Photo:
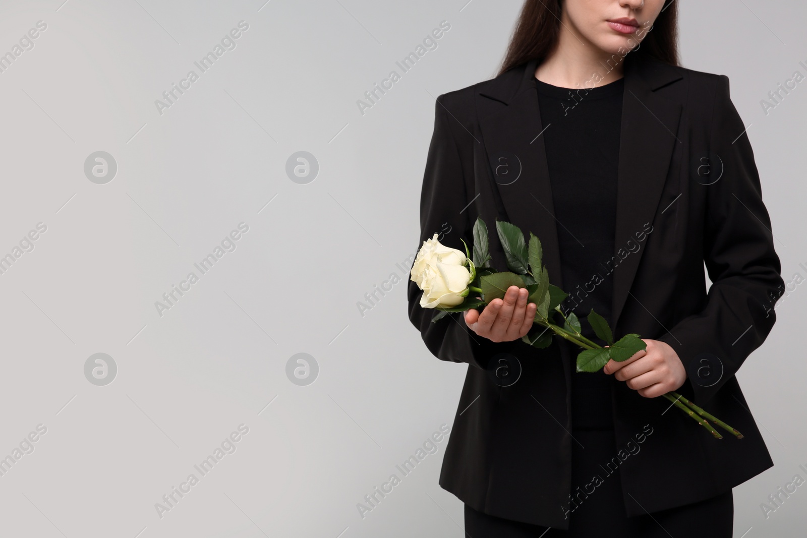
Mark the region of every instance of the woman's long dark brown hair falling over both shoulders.
MULTIPOLYGON (((563 0, 526 0, 513 30, 499 73, 534 58, 546 58, 558 42, 563 0)), ((666 2, 653 27, 631 54, 652 56, 669 65, 678 60, 678 10, 675 0, 666 2)))

